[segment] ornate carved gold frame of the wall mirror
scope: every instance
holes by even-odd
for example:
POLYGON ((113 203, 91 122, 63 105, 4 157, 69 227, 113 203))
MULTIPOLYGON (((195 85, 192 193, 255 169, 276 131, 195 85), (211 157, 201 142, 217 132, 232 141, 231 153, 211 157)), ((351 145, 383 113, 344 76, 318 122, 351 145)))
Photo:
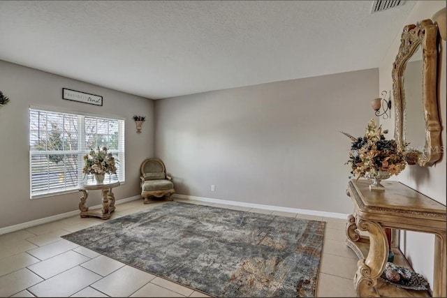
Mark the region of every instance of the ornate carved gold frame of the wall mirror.
POLYGON ((423 52, 423 109, 425 115, 425 149, 413 150, 409 154, 411 160, 421 167, 430 167, 442 156, 441 124, 437 104, 437 59, 438 59, 438 27, 432 20, 423 20, 420 24, 404 27, 401 44, 393 64, 393 94, 395 106, 395 140, 402 146, 405 142, 404 115, 405 93, 403 73, 406 61, 422 46, 423 52))

